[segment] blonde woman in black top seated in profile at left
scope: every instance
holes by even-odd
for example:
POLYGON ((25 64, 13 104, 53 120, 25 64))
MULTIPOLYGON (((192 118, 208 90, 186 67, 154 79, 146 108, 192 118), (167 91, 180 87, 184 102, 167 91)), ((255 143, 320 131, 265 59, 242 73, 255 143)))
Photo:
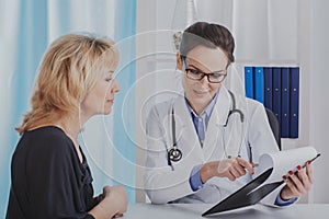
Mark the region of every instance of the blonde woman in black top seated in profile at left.
POLYGON ((91 35, 64 35, 46 50, 32 110, 16 128, 7 219, 109 219, 127 210, 122 186, 105 186, 94 196, 78 142, 90 117, 112 111, 117 62, 114 43, 91 35))

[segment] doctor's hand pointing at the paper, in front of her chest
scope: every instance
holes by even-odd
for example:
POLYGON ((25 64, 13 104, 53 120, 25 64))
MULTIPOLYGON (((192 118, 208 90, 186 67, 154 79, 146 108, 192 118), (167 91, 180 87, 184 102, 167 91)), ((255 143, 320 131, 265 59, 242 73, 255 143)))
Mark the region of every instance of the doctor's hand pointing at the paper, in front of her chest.
POLYGON ((230 181, 235 181, 236 178, 245 175, 247 173, 246 170, 250 174, 253 174, 252 164, 241 158, 212 161, 201 166, 200 177, 203 183, 214 176, 227 177, 230 181))

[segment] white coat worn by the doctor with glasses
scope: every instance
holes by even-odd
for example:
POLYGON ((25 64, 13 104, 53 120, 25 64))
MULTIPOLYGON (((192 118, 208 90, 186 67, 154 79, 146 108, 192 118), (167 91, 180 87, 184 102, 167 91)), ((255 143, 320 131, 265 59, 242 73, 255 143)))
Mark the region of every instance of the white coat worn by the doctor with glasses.
MULTIPOLYGON (((235 182, 226 177, 213 177, 202 188, 193 192, 189 180, 195 165, 226 159, 225 154, 234 157, 240 154, 245 160, 257 163, 263 152, 279 151, 263 105, 245 96, 235 99, 236 108, 243 112, 243 123, 239 114, 235 113, 229 116, 225 127, 232 100, 227 89, 222 85, 207 125, 203 147, 183 95, 151 108, 146 126, 144 185, 152 203, 217 203, 248 183, 252 175, 247 173, 235 182), (172 112, 175 119, 177 145, 182 151, 182 159, 178 162, 171 161, 170 166, 167 151, 173 145, 172 112)), ((273 205, 280 189, 272 192, 263 203, 273 205)))

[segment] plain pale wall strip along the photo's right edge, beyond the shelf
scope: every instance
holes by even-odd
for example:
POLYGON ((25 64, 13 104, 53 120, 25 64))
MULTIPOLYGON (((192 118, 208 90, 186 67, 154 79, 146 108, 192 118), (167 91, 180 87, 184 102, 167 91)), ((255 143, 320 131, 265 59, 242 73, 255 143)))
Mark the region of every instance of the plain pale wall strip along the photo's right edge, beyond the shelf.
POLYGON ((310 142, 321 158, 315 163, 314 203, 329 203, 329 1, 311 1, 311 68, 309 71, 310 142))

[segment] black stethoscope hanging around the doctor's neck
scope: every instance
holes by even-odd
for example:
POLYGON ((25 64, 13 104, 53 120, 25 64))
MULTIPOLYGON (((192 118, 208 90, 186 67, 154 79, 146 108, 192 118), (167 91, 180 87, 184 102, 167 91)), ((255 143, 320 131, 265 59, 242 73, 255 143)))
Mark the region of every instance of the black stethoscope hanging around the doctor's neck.
MULTIPOLYGON (((229 90, 228 90, 228 93, 230 94, 230 97, 231 97, 231 110, 228 112, 228 115, 227 115, 224 128, 227 127, 229 117, 232 114, 239 114, 240 123, 241 123, 241 126, 243 127, 245 114, 242 113, 241 110, 237 108, 237 106, 236 106, 236 99, 235 99, 234 93, 231 91, 229 91, 229 90)), ((178 162, 183 157, 182 151, 177 146, 177 139, 175 139, 175 120, 174 120, 174 111, 173 111, 173 107, 172 107, 172 111, 171 111, 171 130, 172 130, 172 147, 171 147, 171 149, 167 150, 167 159, 168 159, 168 165, 170 165, 171 169, 173 170, 173 166, 172 166, 171 162, 178 162)), ((242 138, 242 136, 243 135, 241 134, 241 138, 242 138)), ((223 146, 224 146, 224 143, 223 143, 223 146)), ((241 142, 240 142, 240 146, 239 146, 238 157, 240 157, 241 146, 242 146, 242 139, 241 139, 241 142)), ((224 146, 224 151, 225 151, 225 153, 227 153, 225 146, 224 146)), ((227 154, 226 154, 226 157, 228 159, 231 158, 230 155, 227 155, 227 154)))

